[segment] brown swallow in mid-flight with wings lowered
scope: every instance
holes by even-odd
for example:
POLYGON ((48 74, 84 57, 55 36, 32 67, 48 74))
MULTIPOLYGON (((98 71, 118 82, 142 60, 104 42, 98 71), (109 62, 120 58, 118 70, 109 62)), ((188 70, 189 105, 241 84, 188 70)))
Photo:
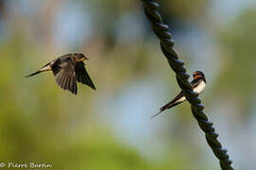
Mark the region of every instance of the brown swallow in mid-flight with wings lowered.
POLYGON ((40 70, 27 75, 34 76, 46 71, 52 71, 56 83, 71 93, 77 94, 77 81, 96 90, 90 76, 85 70, 83 60, 88 59, 82 53, 66 54, 48 62, 40 70))

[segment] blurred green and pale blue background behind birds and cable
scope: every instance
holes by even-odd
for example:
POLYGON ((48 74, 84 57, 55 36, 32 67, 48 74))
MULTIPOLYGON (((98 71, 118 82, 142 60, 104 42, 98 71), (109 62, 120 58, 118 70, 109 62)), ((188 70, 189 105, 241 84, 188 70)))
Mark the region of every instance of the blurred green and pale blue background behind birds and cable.
MULTIPOLYGON (((256 167, 256 1, 162 0, 175 49, 236 169, 256 167)), ((216 170, 189 104, 150 120, 179 88, 139 0, 0 0, 0 161, 52 169, 216 170), (51 73, 82 52, 97 91, 61 90, 51 73)))

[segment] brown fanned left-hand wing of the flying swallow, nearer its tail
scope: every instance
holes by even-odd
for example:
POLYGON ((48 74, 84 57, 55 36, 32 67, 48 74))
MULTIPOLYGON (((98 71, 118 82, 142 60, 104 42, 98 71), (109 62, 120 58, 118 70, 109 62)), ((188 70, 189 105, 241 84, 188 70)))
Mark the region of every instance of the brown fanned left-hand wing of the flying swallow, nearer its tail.
POLYGON ((69 59, 57 59, 51 66, 55 81, 64 90, 77 94, 75 64, 69 59))

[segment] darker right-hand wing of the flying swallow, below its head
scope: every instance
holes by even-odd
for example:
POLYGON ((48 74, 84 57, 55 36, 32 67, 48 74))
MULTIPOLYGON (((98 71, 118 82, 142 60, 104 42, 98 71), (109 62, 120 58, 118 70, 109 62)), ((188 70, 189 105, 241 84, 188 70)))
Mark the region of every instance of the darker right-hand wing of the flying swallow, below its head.
POLYGON ((79 82, 81 82, 82 84, 86 84, 89 87, 91 87, 92 89, 96 90, 90 76, 86 72, 84 63, 82 61, 76 63, 75 72, 76 72, 77 80, 79 82))

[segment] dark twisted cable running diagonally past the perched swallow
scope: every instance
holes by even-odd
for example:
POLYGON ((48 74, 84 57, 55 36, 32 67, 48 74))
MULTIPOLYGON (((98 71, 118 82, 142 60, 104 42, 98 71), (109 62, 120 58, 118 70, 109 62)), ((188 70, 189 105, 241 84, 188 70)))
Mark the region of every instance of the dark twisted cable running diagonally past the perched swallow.
POLYGON ((141 1, 155 35, 160 40, 161 50, 175 72, 177 83, 192 106, 192 115, 197 120, 199 127, 205 132, 207 143, 210 145, 214 155, 219 159, 222 170, 233 170, 232 161, 229 160, 229 155, 227 154, 228 150, 223 148, 218 141, 218 134, 215 132, 215 128, 212 127, 213 123, 208 121, 207 115, 203 112, 205 107, 201 104, 198 93, 192 91, 192 85, 188 80, 190 75, 186 73, 186 69, 183 66, 184 61, 179 60, 177 53, 174 51, 174 41, 169 32, 169 26, 163 23, 159 14, 158 3, 153 0, 141 1))

